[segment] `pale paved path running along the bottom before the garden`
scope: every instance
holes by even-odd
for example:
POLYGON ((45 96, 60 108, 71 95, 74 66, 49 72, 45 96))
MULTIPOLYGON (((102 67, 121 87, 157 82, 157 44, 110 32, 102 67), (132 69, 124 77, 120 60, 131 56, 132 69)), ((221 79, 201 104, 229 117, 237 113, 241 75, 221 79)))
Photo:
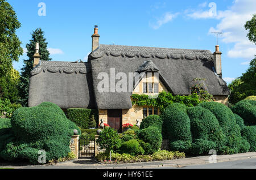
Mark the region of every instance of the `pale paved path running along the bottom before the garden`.
MULTIPOLYGON (((247 152, 247 153, 240 153, 236 155, 217 155, 216 162, 210 164, 209 162, 210 156, 197 156, 197 157, 189 157, 189 158, 182 158, 177 160, 169 160, 169 161, 154 161, 154 162, 136 162, 136 163, 129 163, 129 164, 98 164, 95 160, 91 159, 79 159, 73 160, 69 162, 62 162, 56 165, 37 165, 37 166, 13 166, 13 165, 4 165, 0 164, 1 167, 5 168, 47 168, 47 169, 84 169, 84 168, 93 168, 93 169, 141 169, 141 168, 181 168, 181 167, 193 167, 194 165, 202 165, 200 167, 217 167, 216 165, 220 164, 220 162, 228 162, 228 161, 240 161, 250 159, 250 165, 254 166, 254 162, 256 162, 256 152, 247 152)), ((245 161, 247 163, 247 161, 245 161)), ((243 163, 243 161, 241 162, 243 163)), ((221 165, 221 164, 220 164, 221 165)), ((222 166, 225 166, 222 165, 222 166)), ((196 167, 196 166, 195 166, 196 167)), ((256 168, 256 167, 255 167, 256 168)))

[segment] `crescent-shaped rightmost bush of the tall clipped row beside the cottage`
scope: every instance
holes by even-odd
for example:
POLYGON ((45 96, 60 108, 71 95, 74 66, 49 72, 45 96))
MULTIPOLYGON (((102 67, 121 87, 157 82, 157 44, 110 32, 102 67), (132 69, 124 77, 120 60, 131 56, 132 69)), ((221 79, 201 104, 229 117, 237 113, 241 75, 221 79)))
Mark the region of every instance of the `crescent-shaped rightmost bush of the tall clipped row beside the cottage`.
POLYGON ((199 106, 210 110, 218 120, 222 131, 224 132, 225 139, 223 145, 227 148, 221 148, 220 153, 238 153, 241 150, 242 137, 240 127, 236 123, 236 117, 224 104, 218 102, 202 102, 199 106))

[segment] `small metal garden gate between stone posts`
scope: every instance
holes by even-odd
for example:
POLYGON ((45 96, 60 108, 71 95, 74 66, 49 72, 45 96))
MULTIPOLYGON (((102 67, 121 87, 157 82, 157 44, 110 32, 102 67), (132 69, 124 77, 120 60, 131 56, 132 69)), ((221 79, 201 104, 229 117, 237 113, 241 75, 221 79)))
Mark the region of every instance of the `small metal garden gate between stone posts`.
POLYGON ((79 157, 94 157, 95 156, 95 139, 90 137, 79 139, 79 157))

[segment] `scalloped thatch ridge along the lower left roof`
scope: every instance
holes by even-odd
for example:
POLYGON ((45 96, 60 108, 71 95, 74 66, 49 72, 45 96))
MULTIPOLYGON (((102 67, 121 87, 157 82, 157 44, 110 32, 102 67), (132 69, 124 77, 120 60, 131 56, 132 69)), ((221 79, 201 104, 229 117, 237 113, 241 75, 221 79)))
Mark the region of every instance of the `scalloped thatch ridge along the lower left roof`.
MULTIPOLYGON (((88 64, 89 65, 89 64, 88 64)), ((39 74, 40 72, 64 72, 66 74, 90 72, 90 67, 86 66, 85 62, 64 62, 64 61, 40 61, 39 65, 30 72, 31 75, 39 74)))

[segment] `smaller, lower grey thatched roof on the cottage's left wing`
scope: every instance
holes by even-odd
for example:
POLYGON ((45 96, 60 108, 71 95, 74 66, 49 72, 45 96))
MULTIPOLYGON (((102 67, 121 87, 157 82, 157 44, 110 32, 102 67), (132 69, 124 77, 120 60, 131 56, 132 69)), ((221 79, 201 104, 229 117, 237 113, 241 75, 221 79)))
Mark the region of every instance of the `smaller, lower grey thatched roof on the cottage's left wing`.
POLYGON ((28 106, 53 102, 60 108, 95 108, 87 62, 40 61, 31 71, 28 106))

